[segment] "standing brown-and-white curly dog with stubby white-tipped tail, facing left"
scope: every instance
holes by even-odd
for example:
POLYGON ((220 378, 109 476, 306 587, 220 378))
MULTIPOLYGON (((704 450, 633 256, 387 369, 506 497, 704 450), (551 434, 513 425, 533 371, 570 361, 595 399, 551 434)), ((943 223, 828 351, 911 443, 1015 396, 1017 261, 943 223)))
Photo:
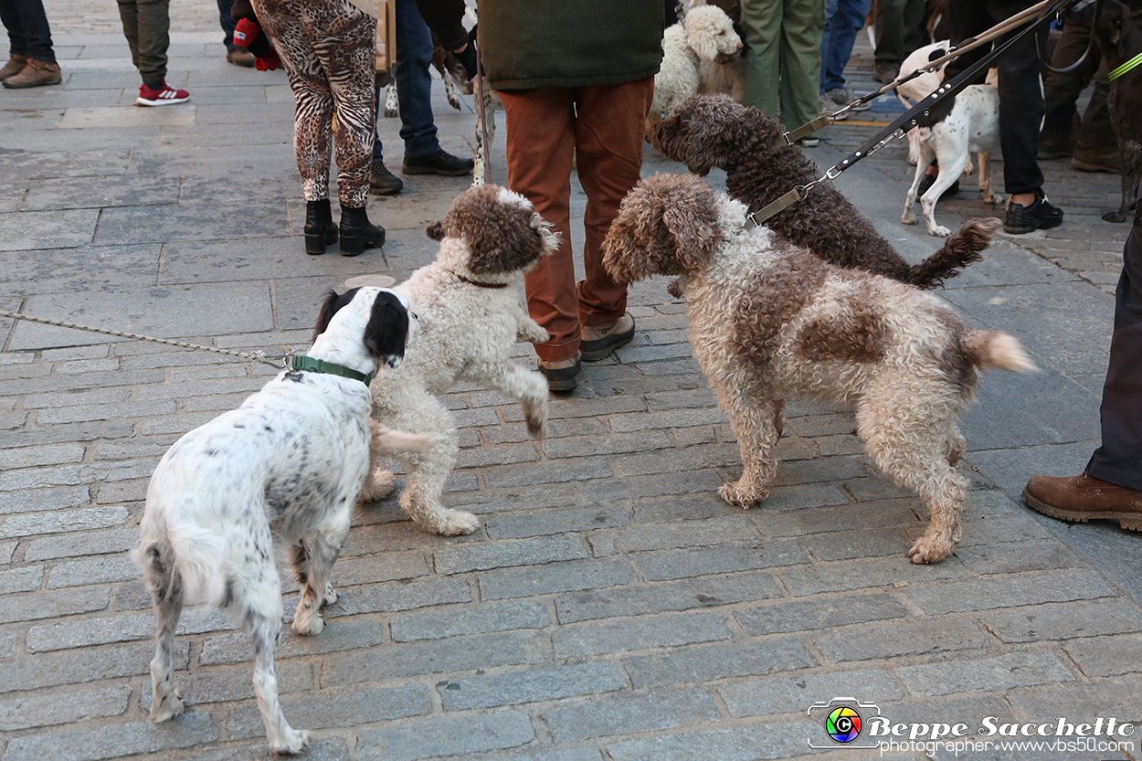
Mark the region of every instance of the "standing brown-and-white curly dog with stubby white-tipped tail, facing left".
POLYGON ((942 560, 959 540, 957 419, 976 370, 1034 365, 1007 334, 970 330, 935 296, 827 264, 746 211, 693 175, 656 175, 626 197, 604 243, 616 280, 681 275, 694 357, 741 448, 741 479, 722 499, 749 507, 769 495, 787 398, 854 406, 877 465, 932 515, 908 556, 942 560))

